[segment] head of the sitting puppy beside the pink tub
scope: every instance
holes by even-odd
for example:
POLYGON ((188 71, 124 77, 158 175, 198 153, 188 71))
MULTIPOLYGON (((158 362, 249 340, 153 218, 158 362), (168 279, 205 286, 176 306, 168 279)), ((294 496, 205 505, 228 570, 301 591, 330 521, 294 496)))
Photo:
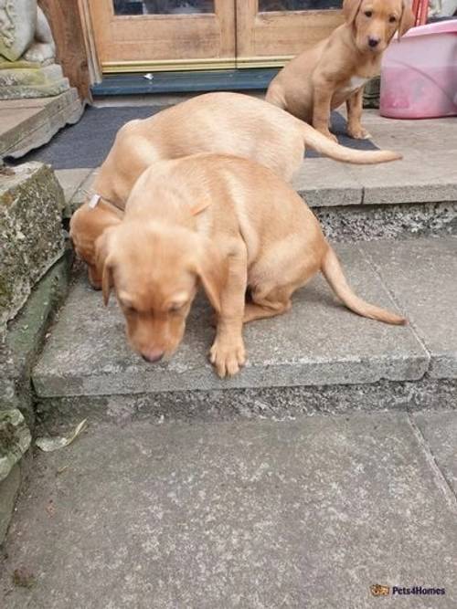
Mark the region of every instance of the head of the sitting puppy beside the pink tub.
POLYGON ((354 27, 362 53, 383 53, 392 37, 403 36, 414 25, 409 0, 345 0, 346 22, 354 27))

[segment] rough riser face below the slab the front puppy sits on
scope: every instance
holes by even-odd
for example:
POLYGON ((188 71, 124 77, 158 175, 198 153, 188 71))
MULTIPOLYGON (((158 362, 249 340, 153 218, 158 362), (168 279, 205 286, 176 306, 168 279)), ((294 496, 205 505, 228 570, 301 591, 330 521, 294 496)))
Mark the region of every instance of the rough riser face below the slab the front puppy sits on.
POLYGON ((36 397, 39 425, 60 429, 88 418, 89 424, 125 424, 145 418, 164 421, 230 421, 237 418, 290 420, 303 415, 356 412, 455 410, 457 379, 378 381, 160 394, 36 397))

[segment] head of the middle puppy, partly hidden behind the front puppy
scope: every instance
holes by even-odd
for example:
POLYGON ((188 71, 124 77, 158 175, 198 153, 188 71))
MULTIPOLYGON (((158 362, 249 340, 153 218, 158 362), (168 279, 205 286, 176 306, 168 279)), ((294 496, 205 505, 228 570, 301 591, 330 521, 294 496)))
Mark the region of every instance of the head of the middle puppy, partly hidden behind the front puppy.
POLYGON ((91 209, 87 203, 81 205, 71 216, 69 236, 76 255, 88 266, 92 288, 101 289, 101 268, 97 266, 95 242, 106 228, 120 222, 120 217, 113 210, 101 205, 91 209))

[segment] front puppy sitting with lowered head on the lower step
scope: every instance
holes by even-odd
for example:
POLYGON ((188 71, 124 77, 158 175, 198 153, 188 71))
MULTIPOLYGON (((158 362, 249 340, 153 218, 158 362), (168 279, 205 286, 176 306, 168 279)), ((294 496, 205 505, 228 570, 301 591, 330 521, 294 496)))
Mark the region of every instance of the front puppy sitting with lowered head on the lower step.
POLYGON ((348 309, 406 322, 349 288, 318 221, 288 184, 235 156, 154 163, 96 249, 104 302, 114 288, 129 341, 148 362, 177 349, 198 284, 218 314, 210 360, 221 377, 245 362, 243 323, 289 310, 292 293, 318 271, 348 309))

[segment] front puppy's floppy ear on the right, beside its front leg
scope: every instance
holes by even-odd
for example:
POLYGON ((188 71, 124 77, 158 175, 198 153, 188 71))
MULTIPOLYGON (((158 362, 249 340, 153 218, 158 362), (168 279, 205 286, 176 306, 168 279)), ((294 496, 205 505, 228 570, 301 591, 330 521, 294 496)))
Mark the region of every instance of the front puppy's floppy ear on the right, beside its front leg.
POLYGON ((220 313, 222 289, 227 282, 228 261, 209 238, 199 236, 198 240, 196 273, 211 306, 220 313))

